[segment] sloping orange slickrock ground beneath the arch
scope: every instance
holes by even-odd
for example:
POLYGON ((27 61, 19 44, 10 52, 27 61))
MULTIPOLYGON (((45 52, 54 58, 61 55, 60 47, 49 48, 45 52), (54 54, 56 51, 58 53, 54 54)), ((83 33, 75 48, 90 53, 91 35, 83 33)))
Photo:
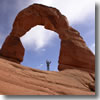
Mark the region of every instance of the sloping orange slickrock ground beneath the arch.
POLYGON ((2 95, 95 95, 92 76, 77 69, 40 71, 0 58, 2 95))

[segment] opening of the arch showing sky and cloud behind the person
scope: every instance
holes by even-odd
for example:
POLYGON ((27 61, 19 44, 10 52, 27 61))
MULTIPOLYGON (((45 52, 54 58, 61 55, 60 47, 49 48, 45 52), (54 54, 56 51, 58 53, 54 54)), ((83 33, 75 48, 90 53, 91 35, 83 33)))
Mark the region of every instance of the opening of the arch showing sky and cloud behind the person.
POLYGON ((49 60, 49 71, 58 71, 60 39, 56 32, 37 25, 22 36, 21 41, 25 48, 22 65, 46 71, 46 60, 49 60))

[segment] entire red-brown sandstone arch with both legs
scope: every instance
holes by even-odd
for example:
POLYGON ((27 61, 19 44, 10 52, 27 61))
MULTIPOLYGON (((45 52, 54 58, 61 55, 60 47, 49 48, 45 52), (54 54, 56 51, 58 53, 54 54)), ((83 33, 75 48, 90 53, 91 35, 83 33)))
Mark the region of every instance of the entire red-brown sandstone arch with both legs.
POLYGON ((41 4, 33 4, 19 12, 0 55, 18 63, 23 61, 24 47, 20 37, 36 25, 58 33, 61 39, 59 70, 77 68, 94 72, 95 57, 79 32, 69 26, 67 18, 59 10, 41 4))

